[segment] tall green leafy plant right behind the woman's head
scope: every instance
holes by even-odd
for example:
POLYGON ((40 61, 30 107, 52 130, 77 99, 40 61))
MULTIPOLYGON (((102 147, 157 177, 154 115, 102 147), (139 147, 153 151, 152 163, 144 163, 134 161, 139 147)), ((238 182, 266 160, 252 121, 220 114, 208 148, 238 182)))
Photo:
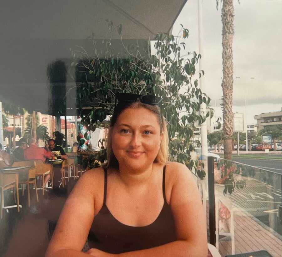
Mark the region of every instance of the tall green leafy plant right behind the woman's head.
MULTIPOLYGON (((122 25, 108 21, 109 38, 89 38, 93 53, 79 47, 72 50, 76 71, 76 96, 79 115, 89 130, 97 126, 107 127, 107 116, 111 116, 115 105, 115 93, 154 94, 161 96, 160 108, 167 121, 170 155, 172 160, 185 163, 190 169, 196 165, 191 159, 194 146, 191 143, 193 126, 206 120, 200 112, 202 103, 210 98, 198 86, 203 70, 196 70, 201 54, 187 51, 180 39, 186 39, 189 31, 183 28, 175 37, 158 33, 151 54, 150 41, 125 42, 122 25), (119 40, 112 40, 113 34, 119 40), (92 107, 88 114, 82 109, 92 107)), ((102 155, 103 156, 103 155, 102 155)), ((97 157, 99 158, 99 157, 97 157)), ((104 158, 104 156, 103 156, 104 158)))

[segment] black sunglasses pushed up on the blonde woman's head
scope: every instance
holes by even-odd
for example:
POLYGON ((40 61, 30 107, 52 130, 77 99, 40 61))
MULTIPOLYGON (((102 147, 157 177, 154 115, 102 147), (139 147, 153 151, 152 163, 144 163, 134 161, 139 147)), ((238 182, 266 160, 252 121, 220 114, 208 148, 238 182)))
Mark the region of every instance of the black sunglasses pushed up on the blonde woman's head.
POLYGON ((148 105, 159 105, 159 103, 163 100, 162 97, 155 95, 135 95, 131 93, 116 93, 115 106, 117 105, 117 100, 121 102, 133 103, 136 102, 138 98, 140 99, 141 103, 148 105))

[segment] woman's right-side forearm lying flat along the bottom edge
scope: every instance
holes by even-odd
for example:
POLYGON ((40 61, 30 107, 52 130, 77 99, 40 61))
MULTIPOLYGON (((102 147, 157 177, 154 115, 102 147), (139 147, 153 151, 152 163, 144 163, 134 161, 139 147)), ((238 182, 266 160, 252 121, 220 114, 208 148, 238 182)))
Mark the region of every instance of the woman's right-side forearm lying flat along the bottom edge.
POLYGON ((148 256, 206 257, 207 253, 208 250, 207 250, 206 242, 204 245, 199 245, 199 244, 196 245, 193 242, 178 240, 149 249, 118 254, 118 257, 148 257, 148 256))

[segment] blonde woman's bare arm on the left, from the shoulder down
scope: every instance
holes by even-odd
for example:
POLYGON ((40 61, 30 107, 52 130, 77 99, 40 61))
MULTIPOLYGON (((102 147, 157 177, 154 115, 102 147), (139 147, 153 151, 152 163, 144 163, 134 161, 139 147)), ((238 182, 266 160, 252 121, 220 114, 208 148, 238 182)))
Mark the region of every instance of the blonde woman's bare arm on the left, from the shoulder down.
POLYGON ((99 182, 103 183, 104 180, 103 172, 98 169, 86 172, 79 179, 65 203, 45 257, 89 256, 82 253, 81 249, 93 222, 92 192, 99 182))

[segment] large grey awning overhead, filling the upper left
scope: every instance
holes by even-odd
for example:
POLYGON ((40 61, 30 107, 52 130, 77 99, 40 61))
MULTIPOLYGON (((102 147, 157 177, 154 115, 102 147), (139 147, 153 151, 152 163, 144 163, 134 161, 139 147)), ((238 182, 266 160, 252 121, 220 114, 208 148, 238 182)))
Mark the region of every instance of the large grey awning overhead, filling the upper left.
MULTIPOLYGON (((123 39, 154 39, 169 33, 187 0, 4 1, 0 10, 0 101, 41 113, 50 110, 47 67, 55 60, 71 63, 70 49, 91 50, 86 38, 103 39, 106 19, 122 24, 123 39)), ((119 39, 118 33, 113 39, 119 39)), ((67 90, 74 85, 68 74, 67 90)), ((63 101, 58 96, 56 101, 63 101)), ((69 111, 75 103, 69 103, 69 111)), ((72 111, 74 113, 74 111, 72 111)))

